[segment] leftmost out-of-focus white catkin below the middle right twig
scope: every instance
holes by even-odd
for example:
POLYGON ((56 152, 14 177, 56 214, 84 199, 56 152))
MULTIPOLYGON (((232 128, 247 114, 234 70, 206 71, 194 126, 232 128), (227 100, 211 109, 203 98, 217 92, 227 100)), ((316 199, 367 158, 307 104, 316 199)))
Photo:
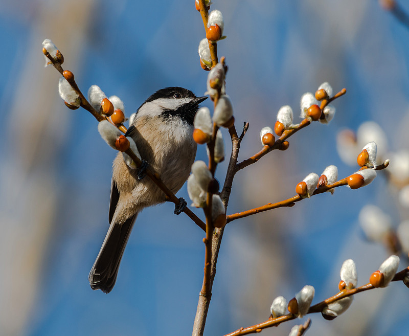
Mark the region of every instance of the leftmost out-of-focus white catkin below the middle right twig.
POLYGON ((368 240, 382 242, 392 228, 392 219, 377 206, 368 204, 359 212, 358 220, 368 240))

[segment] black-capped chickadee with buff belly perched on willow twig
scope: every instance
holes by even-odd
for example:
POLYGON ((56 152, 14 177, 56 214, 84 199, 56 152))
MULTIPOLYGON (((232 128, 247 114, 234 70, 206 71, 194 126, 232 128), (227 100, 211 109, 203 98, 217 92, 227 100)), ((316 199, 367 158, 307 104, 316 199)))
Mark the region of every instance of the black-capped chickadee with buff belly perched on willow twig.
MULTIPOLYGON (((143 162, 148 163, 173 193, 189 176, 197 147, 192 137, 193 121, 199 103, 207 98, 196 97, 183 87, 162 88, 138 108, 125 133, 125 137, 134 140, 143 162)), ((138 214, 146 207, 166 201, 165 193, 150 178, 140 180, 143 175, 141 170, 127 166, 122 153, 118 153, 112 165, 109 229, 88 276, 94 290, 101 289, 104 293, 112 290, 138 214)), ((180 210, 175 209, 175 213, 180 210)))

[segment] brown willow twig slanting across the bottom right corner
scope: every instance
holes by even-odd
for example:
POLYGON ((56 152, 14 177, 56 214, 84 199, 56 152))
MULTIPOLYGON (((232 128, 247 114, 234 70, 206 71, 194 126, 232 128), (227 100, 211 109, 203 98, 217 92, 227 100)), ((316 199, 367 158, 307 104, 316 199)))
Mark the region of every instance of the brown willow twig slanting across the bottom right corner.
MULTIPOLYGON (((392 279, 392 281, 401 281, 404 276, 409 274, 409 267, 405 268, 404 270, 400 271, 395 275, 395 277, 392 279)), ((335 294, 334 296, 321 301, 313 306, 310 307, 308 310, 308 314, 311 313, 316 313, 316 312, 321 312, 326 306, 328 306, 330 303, 333 303, 335 301, 338 301, 340 299, 346 298, 348 296, 353 296, 357 293, 361 292, 366 292, 367 290, 374 289, 373 285, 370 283, 367 283, 366 285, 357 287, 357 288, 352 288, 352 289, 344 289, 341 292, 335 294)), ((255 324, 253 326, 249 326, 246 328, 240 328, 236 331, 233 331, 229 334, 226 334, 224 336, 241 336, 241 335, 248 335, 251 333, 256 333, 262 331, 262 329, 273 327, 273 326, 278 326, 279 324, 289 321, 289 320, 294 320, 297 318, 297 315, 293 315, 291 313, 288 313, 287 315, 280 316, 278 318, 269 318, 268 320, 255 324)))

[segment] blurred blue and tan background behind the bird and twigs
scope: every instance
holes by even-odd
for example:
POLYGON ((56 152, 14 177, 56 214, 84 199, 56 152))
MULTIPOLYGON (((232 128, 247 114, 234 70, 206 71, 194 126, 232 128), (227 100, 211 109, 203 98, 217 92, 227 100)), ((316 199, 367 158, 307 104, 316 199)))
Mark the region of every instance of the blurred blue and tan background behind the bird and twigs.
MULTIPOLYGON (((401 4, 409 11, 406 2, 401 4)), ((261 149, 259 131, 274 127, 282 105, 297 122, 299 100, 329 81, 337 112, 329 125, 313 123, 236 175, 228 214, 295 194, 310 172, 330 164, 339 177, 357 170, 336 151, 337 133, 376 121, 383 151, 408 148, 409 29, 377 1, 214 1, 224 15, 219 57, 226 56, 226 91, 236 127, 250 127, 240 161, 261 149)), ((206 91, 197 47, 205 31, 194 1, 0 0, 0 334, 188 335, 203 277, 203 232, 164 204, 138 217, 115 288, 94 292, 88 272, 108 229, 111 164, 116 153, 96 120, 67 109, 60 75, 44 69, 41 42, 50 38, 84 93, 98 84, 118 95, 129 116, 157 89, 206 91)), ((210 106, 206 101, 204 105, 210 106)), ((224 132, 229 153, 228 132, 224 132)), ((358 152, 356 152, 356 155, 358 152)), ((197 159, 206 160, 204 146, 197 159)), ((217 169, 224 181, 226 163, 217 169)), ((186 185, 178 197, 188 199, 186 185)), ((385 175, 370 186, 346 187, 234 221, 225 229, 205 329, 222 335, 266 320, 272 300, 315 287, 313 303, 337 293, 348 258, 358 284, 389 256, 361 233, 361 208, 374 204, 406 218, 385 175)), ((199 210, 194 211, 201 217, 199 210)), ((407 266, 402 255, 399 270, 407 266)), ((401 283, 355 297, 343 316, 309 316, 314 335, 402 335, 409 292, 401 283)), ((263 335, 287 335, 292 321, 263 335)))

